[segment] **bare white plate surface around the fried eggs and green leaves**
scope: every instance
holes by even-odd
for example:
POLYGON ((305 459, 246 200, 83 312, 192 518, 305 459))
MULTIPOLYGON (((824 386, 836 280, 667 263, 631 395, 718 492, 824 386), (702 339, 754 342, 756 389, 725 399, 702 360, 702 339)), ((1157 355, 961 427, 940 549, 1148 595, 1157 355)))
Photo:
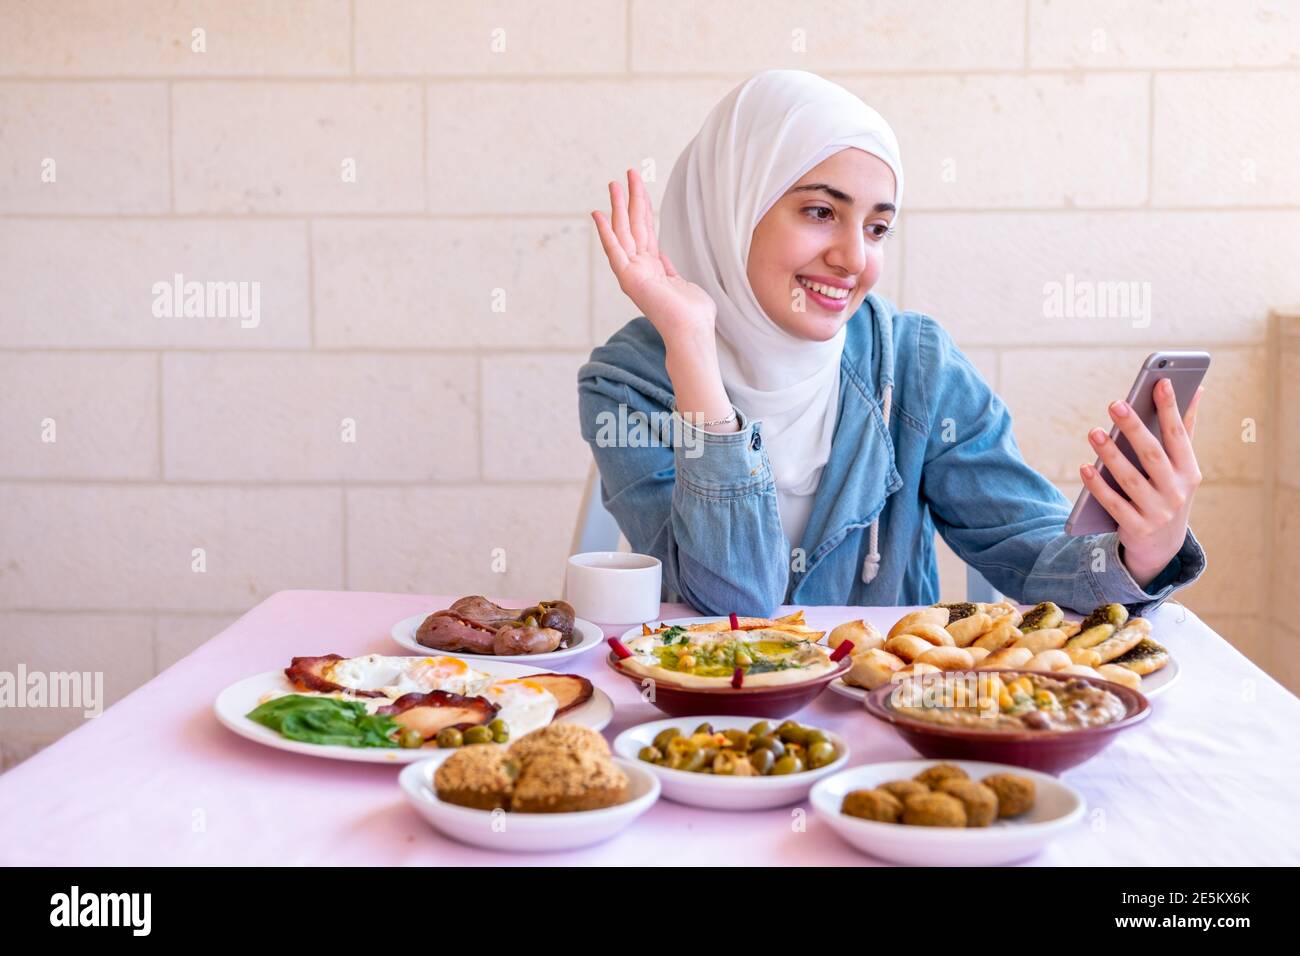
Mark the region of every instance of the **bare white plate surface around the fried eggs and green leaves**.
MULTIPOLYGON (((473 666, 486 674, 498 678, 526 678, 533 674, 549 674, 542 667, 528 667, 519 663, 502 663, 495 659, 474 661, 473 666)), ((256 740, 259 744, 274 747, 277 750, 291 753, 306 753, 312 757, 328 757, 329 760, 351 760, 361 763, 415 763, 421 760, 432 760, 441 763, 452 750, 436 747, 420 748, 386 748, 386 747, 343 747, 341 744, 308 744, 302 740, 290 740, 281 736, 270 727, 265 727, 256 721, 250 721, 246 714, 254 710, 261 698, 276 691, 294 693, 295 688, 289 683, 282 670, 256 674, 251 678, 231 684, 220 695, 213 705, 217 719, 242 737, 256 740)), ((578 723, 592 730, 604 730, 614 719, 614 701, 598 687, 592 688, 592 698, 582 706, 573 708, 559 718, 560 723, 578 723)))

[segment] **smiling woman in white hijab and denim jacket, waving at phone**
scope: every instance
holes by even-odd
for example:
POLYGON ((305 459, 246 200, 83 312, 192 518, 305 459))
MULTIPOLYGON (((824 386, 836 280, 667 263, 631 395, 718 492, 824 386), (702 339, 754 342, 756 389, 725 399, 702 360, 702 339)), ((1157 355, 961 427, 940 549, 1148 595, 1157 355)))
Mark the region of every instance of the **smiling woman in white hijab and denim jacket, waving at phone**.
POLYGON ((902 185, 880 114, 801 70, 714 108, 673 168, 662 238, 640 177, 627 198, 610 183, 611 216, 592 215, 642 317, 578 372, 606 507, 663 562, 666 597, 707 614, 931 604, 936 528, 1022 602, 1160 605, 1205 567, 1187 527, 1200 392, 1179 419, 1157 386, 1167 454, 1110 406, 1150 477, 1093 429, 1130 501, 1080 467, 1119 531, 1067 536, 1070 502, 948 333, 871 294, 902 185), (642 421, 671 434, 611 428, 642 421))

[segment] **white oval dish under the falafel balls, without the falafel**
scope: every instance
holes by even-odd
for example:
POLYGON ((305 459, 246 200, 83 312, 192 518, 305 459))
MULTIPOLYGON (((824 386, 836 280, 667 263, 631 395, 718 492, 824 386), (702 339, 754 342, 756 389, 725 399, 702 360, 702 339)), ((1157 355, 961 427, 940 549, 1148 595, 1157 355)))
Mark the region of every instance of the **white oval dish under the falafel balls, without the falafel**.
POLYGON ((931 827, 878 823, 840 813, 844 795, 872 790, 889 780, 910 780, 937 760, 867 763, 827 777, 812 787, 812 810, 845 842, 888 862, 906 866, 998 866, 1039 853, 1057 835, 1078 825, 1087 801, 1074 787, 1036 770, 970 760, 956 763, 972 779, 989 774, 1018 774, 1037 786, 1034 809, 1023 817, 1000 819, 987 827, 931 827))

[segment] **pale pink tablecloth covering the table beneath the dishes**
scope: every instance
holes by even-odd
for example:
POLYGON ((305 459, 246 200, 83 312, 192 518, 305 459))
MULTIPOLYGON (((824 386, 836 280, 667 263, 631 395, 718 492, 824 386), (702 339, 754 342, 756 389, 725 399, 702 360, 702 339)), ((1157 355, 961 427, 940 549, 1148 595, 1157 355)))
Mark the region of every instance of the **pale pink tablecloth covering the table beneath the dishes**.
MULTIPOLYGON (((554 856, 473 849, 443 838, 396 787, 399 767, 282 753, 217 723, 228 684, 294 654, 403 653, 402 618, 446 598, 282 592, 100 718, 0 777, 4 864, 848 864, 872 862, 811 809, 723 813, 660 800, 615 839, 554 856), (806 827, 798 822, 806 819, 806 827)), ((666 606, 663 617, 686 614, 666 606)), ((829 627, 898 607, 809 609, 829 627)), ((1165 605, 1156 632, 1182 676, 1154 714, 1066 774, 1089 814, 1041 864, 1297 864, 1300 701, 1191 611, 1165 605)), ((659 713, 606 669, 602 652, 568 670, 616 706, 612 740, 659 713)), ((914 757, 854 701, 824 693, 800 719, 842 734, 852 765, 914 757)))

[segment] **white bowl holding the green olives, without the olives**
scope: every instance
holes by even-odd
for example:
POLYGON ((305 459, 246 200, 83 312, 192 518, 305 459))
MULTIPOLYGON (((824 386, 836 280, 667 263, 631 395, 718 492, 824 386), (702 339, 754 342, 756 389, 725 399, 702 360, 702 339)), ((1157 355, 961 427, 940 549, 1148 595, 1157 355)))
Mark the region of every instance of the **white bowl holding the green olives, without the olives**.
MULTIPOLYGON (((650 721, 619 734, 614 740, 614 752, 627 760, 637 760, 642 747, 654 743, 659 731, 676 727, 682 734, 690 734, 701 723, 708 722, 715 730, 745 730, 758 722, 754 717, 672 717, 667 721, 650 721)), ((780 721, 772 721, 774 724, 780 721)), ((849 762, 849 745, 838 734, 824 731, 827 740, 835 747, 836 758, 824 767, 805 770, 800 774, 781 777, 716 777, 714 774, 693 774, 686 770, 673 770, 655 763, 637 761, 659 778, 663 795, 679 804, 708 806, 722 810, 763 810, 772 806, 786 806, 798 803, 809 795, 812 784, 829 777, 849 762)))

